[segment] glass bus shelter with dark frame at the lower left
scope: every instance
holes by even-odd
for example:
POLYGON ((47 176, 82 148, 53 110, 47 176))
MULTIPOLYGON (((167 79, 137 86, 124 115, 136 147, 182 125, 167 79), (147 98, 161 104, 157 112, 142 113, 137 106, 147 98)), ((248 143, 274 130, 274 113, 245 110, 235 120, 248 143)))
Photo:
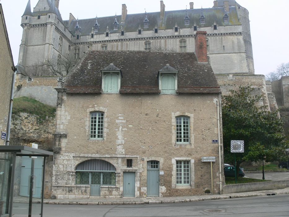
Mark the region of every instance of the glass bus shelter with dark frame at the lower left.
POLYGON ((0 146, 0 217, 42 216, 46 157, 28 146, 0 146))

